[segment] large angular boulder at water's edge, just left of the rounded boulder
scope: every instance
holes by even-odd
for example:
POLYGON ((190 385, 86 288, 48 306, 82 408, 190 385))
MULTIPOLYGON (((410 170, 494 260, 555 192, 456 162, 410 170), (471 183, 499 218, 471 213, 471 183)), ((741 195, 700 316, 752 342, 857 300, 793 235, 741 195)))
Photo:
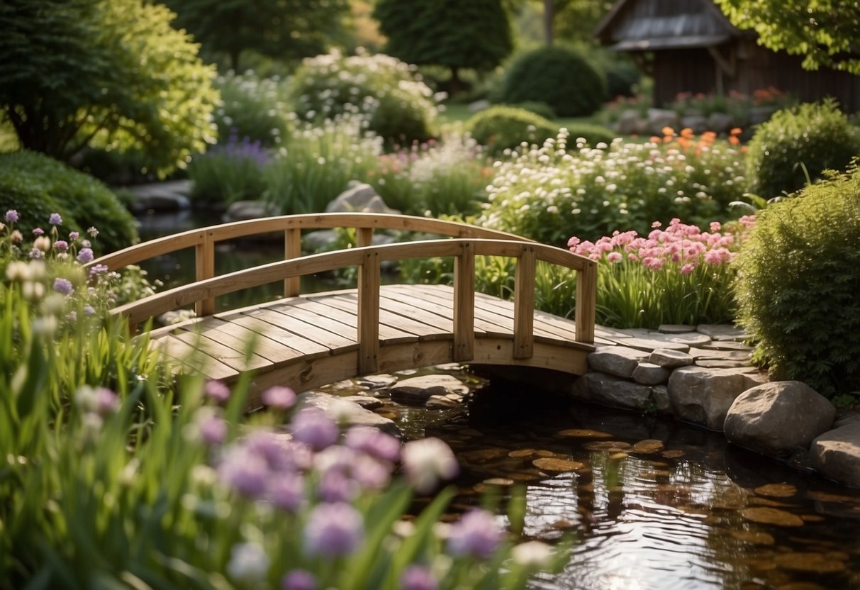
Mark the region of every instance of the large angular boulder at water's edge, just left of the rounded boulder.
POLYGON ((673 414, 680 420, 720 431, 734 399, 766 380, 766 376, 744 369, 675 369, 668 383, 673 414))

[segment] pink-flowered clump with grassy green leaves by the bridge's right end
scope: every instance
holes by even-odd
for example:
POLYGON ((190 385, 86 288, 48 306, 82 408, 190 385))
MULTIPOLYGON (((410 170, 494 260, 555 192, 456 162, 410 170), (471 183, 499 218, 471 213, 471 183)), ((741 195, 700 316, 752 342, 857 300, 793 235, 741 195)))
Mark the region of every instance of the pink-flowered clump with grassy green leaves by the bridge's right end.
POLYGON ((673 219, 654 223, 648 237, 614 232, 596 242, 570 238, 575 254, 599 261, 597 321, 613 328, 657 329, 662 323, 695 326, 734 320, 729 262, 755 218, 710 231, 673 219))

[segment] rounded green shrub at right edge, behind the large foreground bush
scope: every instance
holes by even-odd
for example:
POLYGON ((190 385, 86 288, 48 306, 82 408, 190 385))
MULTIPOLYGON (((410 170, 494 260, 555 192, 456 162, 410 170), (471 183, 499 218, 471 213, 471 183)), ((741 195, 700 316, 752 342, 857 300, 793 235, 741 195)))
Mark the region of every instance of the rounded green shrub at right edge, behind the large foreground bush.
POLYGON ((845 170, 860 154, 860 132, 828 99, 777 111, 747 149, 752 192, 770 199, 796 192, 826 169, 845 170))

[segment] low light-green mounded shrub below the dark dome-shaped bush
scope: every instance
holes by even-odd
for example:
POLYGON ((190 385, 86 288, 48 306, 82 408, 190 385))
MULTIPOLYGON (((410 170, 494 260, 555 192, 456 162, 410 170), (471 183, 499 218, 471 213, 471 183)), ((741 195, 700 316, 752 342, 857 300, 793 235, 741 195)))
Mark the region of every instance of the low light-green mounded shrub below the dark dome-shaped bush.
POLYGON ((467 130, 479 144, 487 145, 498 155, 513 150, 520 143, 543 144, 556 137, 558 126, 538 114, 523 108, 495 106, 475 114, 467 123, 467 130))

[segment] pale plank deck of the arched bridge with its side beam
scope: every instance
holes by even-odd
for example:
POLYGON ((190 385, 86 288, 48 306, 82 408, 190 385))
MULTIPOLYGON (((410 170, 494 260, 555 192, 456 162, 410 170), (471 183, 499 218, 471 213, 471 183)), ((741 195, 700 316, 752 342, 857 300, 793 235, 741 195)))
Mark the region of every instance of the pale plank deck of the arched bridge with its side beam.
MULTIPOLYGON (((378 372, 453 360, 453 289, 380 288, 378 372)), ((252 395, 273 384, 297 391, 359 376, 358 293, 311 293, 153 330, 153 346, 209 378, 253 371, 252 395)), ((594 347, 575 341, 574 322, 534 312, 534 353, 513 354, 514 304, 475 294, 475 352, 465 363, 537 366, 583 374, 594 347)), ((255 402, 254 399, 251 400, 255 402)))

